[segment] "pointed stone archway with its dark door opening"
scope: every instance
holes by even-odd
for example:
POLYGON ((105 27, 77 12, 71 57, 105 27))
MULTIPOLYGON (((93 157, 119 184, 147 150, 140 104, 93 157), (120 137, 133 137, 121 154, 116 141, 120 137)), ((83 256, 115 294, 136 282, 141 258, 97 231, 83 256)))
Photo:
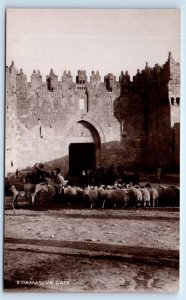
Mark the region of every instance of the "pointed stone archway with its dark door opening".
POLYGON ((104 142, 103 130, 92 118, 86 115, 72 119, 66 128, 69 174, 74 176, 82 170, 98 168, 104 142))

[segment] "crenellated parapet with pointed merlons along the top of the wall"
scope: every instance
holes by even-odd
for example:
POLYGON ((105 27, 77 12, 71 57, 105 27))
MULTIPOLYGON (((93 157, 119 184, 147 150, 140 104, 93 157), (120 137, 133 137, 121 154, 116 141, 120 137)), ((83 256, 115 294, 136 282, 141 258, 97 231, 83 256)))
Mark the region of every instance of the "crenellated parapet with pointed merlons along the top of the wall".
POLYGON ((49 75, 46 76, 46 83, 42 82, 42 76, 40 71, 33 71, 31 75, 30 83, 27 82, 27 76, 21 69, 19 72, 15 68, 14 62, 9 67, 6 67, 7 86, 10 91, 16 91, 28 85, 32 90, 38 88, 44 88, 52 92, 54 90, 68 89, 68 86, 73 89, 77 85, 78 89, 84 89, 91 86, 92 88, 103 88, 108 92, 113 92, 120 88, 121 95, 127 93, 140 94, 153 89, 154 86, 159 88, 166 88, 168 85, 168 93, 170 104, 179 103, 180 95, 180 64, 177 63, 169 52, 168 59, 164 65, 160 66, 155 64, 153 67, 146 65, 141 71, 137 69, 136 74, 132 80, 128 71, 121 72, 119 81, 116 80, 116 76, 112 73, 108 73, 104 76, 104 81, 101 82, 101 76, 99 71, 92 71, 90 75, 90 81, 86 75, 86 70, 78 70, 76 76, 76 82, 73 82, 73 77, 70 71, 64 71, 61 76, 61 82, 58 81, 58 76, 51 69, 49 75), (85 85, 83 87, 83 85, 85 85))

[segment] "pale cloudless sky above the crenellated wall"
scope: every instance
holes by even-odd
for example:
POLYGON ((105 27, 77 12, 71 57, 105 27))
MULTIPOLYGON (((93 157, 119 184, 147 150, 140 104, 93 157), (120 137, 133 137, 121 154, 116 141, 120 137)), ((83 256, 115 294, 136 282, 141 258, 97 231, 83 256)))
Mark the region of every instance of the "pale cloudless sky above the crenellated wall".
POLYGON ((128 70, 162 65, 169 51, 180 62, 178 9, 8 9, 6 64, 13 60, 30 81, 33 70, 43 80, 52 68, 99 70, 117 77, 128 70))

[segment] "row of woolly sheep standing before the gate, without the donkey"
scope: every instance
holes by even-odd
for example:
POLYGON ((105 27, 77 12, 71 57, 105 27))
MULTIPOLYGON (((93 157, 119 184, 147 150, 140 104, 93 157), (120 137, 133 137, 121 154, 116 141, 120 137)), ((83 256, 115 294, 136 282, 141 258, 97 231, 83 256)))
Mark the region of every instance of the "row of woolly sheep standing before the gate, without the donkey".
POLYGON ((56 193, 58 204, 79 204, 89 208, 127 207, 179 207, 179 187, 177 186, 87 186, 85 188, 67 186, 56 193))

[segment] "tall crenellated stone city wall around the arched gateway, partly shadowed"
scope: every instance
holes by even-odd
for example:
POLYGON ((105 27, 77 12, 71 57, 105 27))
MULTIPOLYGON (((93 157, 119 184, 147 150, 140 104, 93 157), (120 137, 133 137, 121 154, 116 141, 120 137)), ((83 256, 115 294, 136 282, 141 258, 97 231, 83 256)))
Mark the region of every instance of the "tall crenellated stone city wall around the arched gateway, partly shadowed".
POLYGON ((52 69, 45 82, 35 70, 28 82, 22 69, 7 67, 6 173, 43 162, 51 168, 60 164, 66 174, 69 145, 90 142, 96 167, 170 165, 173 116, 172 123, 179 122, 170 103, 173 93, 178 98, 178 67, 169 54, 165 65, 146 64, 133 81, 126 71, 119 81, 109 73, 104 82, 98 71, 89 82, 84 70, 75 82, 70 71, 59 81, 52 69))

